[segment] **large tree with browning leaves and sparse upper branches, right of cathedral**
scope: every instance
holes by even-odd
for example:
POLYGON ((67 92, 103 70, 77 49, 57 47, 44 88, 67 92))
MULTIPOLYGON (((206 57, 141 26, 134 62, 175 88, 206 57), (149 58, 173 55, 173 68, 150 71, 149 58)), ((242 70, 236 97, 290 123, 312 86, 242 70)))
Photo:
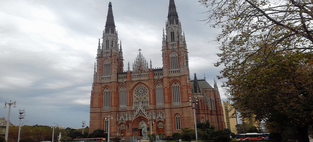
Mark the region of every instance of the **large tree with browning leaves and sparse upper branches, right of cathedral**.
MULTIPOLYGON (((296 130, 308 142, 313 124, 312 0, 199 0, 217 36, 219 78, 245 118, 296 130)), ((283 135, 281 135, 283 136, 283 135)))

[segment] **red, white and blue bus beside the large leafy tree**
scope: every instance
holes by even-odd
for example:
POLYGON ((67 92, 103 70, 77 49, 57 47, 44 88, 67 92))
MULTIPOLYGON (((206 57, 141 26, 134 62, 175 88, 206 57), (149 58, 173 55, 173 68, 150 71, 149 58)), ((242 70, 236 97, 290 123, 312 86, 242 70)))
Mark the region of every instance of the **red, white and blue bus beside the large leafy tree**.
POLYGON ((269 140, 269 133, 237 134, 237 140, 269 140))

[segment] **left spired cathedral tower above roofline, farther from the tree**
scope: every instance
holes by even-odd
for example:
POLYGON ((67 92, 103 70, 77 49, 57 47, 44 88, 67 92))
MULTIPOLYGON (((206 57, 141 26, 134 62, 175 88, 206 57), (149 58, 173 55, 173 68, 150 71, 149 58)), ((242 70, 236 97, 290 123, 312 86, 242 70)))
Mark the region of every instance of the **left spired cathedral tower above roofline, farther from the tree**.
POLYGON ((117 74, 123 72, 122 45, 121 41, 118 44, 118 34, 115 30, 111 2, 109 2, 102 43, 100 45, 100 39, 98 43, 96 67, 96 82, 116 82, 117 74))

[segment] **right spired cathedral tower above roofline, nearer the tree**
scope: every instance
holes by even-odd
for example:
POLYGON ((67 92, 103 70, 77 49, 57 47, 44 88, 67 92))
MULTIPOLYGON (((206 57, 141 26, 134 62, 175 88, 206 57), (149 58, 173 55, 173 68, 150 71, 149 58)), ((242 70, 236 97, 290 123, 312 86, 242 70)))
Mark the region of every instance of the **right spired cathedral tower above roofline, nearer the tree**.
POLYGON ((166 35, 163 29, 162 39, 164 76, 177 73, 189 76, 187 45, 174 0, 170 0, 165 27, 166 35))

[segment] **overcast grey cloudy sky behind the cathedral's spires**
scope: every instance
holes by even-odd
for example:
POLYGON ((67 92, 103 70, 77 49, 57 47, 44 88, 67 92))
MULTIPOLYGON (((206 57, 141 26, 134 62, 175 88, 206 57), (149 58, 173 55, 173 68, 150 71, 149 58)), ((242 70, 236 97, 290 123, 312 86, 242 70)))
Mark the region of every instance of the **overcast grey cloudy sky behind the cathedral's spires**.
MULTIPOLYGON (((162 67, 162 29, 168 0, 111 0, 116 30, 122 43, 124 70, 141 53, 162 67)), ((197 0, 176 0, 189 52, 191 78, 213 79, 220 52, 214 40, 218 29, 205 25, 197 0), (205 76, 204 76, 205 74, 205 76)), ((89 126, 90 92, 98 39, 102 37, 108 0, 0 1, 0 105, 16 101, 11 123, 19 124, 25 109, 27 125, 81 128, 89 126)), ((221 81, 217 81, 226 101, 221 81)), ((7 118, 8 108, 0 109, 7 118)))

